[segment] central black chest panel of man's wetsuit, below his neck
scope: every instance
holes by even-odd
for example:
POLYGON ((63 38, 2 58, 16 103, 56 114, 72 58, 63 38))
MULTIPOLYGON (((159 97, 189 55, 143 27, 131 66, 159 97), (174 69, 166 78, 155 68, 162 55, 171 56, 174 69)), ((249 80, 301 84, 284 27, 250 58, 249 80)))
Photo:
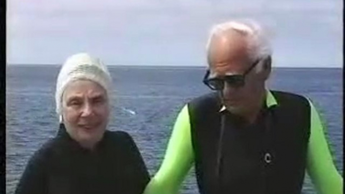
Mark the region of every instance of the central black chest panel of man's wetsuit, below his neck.
POLYGON ((233 125, 231 119, 226 120, 220 166, 222 189, 231 193, 261 193, 264 135, 262 120, 249 126, 233 125))

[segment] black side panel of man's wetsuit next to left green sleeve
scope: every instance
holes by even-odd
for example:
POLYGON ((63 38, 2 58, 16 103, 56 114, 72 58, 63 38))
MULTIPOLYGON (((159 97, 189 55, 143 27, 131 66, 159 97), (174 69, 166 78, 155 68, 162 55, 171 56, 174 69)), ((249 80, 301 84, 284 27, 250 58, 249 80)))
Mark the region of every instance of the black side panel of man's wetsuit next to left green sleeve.
POLYGON ((198 99, 198 101, 205 100, 209 101, 204 104, 200 103, 203 106, 189 104, 197 183, 202 194, 212 192, 217 185, 217 180, 214 178, 216 176, 215 166, 217 166, 218 151, 216 140, 219 139, 221 122, 221 114, 217 112, 217 109, 220 109, 217 93, 198 99), (198 132, 194 130, 198 130, 198 132))

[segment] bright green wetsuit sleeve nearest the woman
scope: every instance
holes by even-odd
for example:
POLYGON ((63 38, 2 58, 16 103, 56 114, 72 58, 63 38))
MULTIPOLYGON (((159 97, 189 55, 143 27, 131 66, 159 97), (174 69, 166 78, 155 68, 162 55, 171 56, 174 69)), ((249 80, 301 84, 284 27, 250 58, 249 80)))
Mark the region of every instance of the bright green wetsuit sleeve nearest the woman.
POLYGON ((163 162, 144 194, 176 194, 194 162, 188 106, 182 109, 172 130, 163 162))

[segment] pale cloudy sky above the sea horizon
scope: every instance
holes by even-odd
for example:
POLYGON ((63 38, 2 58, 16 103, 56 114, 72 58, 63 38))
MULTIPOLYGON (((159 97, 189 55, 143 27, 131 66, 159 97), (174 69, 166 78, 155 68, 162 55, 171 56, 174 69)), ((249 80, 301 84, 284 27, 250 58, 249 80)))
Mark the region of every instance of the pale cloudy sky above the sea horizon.
POLYGON ((213 25, 254 19, 276 67, 342 67, 341 0, 8 0, 7 64, 206 66, 213 25))

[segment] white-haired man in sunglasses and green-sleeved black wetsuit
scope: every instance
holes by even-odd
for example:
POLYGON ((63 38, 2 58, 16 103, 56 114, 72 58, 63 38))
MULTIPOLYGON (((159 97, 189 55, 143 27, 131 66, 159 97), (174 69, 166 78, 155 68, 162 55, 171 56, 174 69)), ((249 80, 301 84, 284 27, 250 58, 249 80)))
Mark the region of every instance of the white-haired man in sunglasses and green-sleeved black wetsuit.
POLYGON ((271 47, 255 22, 216 25, 203 82, 215 92, 180 112, 145 194, 172 194, 195 165, 200 193, 342 193, 319 114, 301 95, 269 90, 271 47))

